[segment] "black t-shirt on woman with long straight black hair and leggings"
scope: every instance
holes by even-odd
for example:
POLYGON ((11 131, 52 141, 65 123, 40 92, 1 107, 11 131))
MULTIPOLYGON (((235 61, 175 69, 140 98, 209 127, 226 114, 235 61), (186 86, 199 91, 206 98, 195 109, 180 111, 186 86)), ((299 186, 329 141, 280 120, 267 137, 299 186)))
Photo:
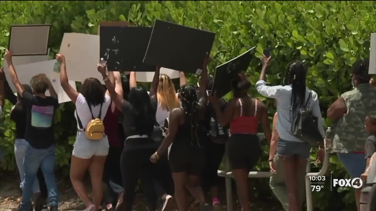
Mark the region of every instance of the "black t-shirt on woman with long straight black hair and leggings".
MULTIPOLYGON (((155 117, 155 113, 157 112, 158 99, 150 98, 150 103, 152 104, 153 115, 155 117)), ((123 112, 123 115, 124 115, 123 128, 124 128, 125 138, 127 138, 128 136, 134 136, 134 135, 148 135, 148 136, 152 135, 156 121, 149 122, 148 124, 144 125, 144 127, 146 127, 146 131, 150 131, 149 134, 139 134, 136 130, 136 122, 135 122, 135 119, 133 118, 133 110, 132 110, 132 105, 130 104, 130 102, 124 100, 121 111, 123 112)))

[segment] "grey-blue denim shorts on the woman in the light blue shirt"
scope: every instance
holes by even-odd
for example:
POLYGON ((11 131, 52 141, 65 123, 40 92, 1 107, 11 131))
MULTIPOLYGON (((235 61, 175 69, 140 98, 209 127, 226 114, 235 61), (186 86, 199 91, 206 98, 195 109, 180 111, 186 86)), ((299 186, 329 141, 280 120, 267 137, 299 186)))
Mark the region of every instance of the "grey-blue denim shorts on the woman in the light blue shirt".
POLYGON ((291 157, 297 155, 299 158, 309 159, 311 145, 307 142, 292 142, 280 139, 277 143, 277 155, 291 157))

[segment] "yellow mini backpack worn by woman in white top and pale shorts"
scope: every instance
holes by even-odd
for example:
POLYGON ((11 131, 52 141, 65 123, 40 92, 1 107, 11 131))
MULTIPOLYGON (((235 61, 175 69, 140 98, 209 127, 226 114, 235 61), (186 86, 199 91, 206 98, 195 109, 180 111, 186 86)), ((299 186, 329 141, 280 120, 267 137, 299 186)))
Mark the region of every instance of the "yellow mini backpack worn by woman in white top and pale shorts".
POLYGON ((102 104, 100 104, 100 110, 99 110, 99 116, 98 118, 94 118, 94 115, 91 111, 91 105, 88 103, 90 113, 91 113, 91 121, 89 121, 88 125, 86 126, 86 129, 83 129, 82 122, 80 121, 80 118, 78 117, 77 110, 77 121, 80 129, 85 131, 85 136, 89 140, 102 140, 103 136, 105 136, 105 125, 103 124, 102 120, 100 119, 102 116, 102 104))

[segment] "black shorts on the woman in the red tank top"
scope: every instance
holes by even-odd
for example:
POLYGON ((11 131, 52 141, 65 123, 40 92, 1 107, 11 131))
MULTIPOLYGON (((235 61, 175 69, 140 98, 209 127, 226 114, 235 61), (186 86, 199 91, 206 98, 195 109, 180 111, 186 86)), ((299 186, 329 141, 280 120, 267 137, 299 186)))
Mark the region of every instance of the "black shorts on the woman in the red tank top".
POLYGON ((228 143, 228 158, 232 169, 253 169, 261 156, 257 135, 233 134, 228 143))

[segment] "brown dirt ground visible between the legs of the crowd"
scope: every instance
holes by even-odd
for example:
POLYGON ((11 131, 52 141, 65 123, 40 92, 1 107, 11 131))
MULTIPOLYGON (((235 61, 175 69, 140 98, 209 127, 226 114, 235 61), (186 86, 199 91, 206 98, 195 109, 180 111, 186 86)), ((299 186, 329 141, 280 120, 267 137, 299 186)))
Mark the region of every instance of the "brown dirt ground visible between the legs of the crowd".
MULTIPOLYGON (((86 181, 86 190, 91 191, 90 182, 86 181)), ((16 208, 21 200, 21 193, 19 190, 18 177, 16 175, 1 176, 0 179, 0 211, 16 208)), ((223 189, 223 188, 221 188, 223 189)), ((61 211, 73 211, 84 210, 85 206, 77 196, 68 178, 58 178, 58 190, 59 190, 59 210, 61 211)), ((236 193, 233 193, 234 211, 240 210, 240 206, 237 202, 236 193)), ((221 194, 222 211, 227 210, 226 200, 224 199, 225 193, 221 194)), ((280 211, 282 208, 278 203, 273 200, 254 199, 255 203, 250 204, 250 210, 252 211, 280 211)), ((136 196, 133 210, 146 210, 146 202, 142 194, 136 196)), ((175 209, 177 210, 177 208, 175 209)), ((198 203, 192 200, 191 211, 199 210, 198 203)))

